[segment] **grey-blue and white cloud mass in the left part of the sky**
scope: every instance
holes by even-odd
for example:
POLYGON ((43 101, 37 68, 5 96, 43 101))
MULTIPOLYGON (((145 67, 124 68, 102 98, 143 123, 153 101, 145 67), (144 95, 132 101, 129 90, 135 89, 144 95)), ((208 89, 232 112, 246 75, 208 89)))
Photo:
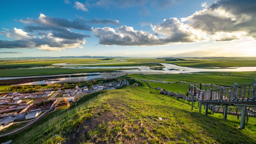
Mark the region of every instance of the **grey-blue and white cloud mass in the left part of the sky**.
POLYGON ((77 30, 91 31, 91 27, 80 21, 72 21, 62 18, 52 18, 40 14, 38 19, 28 18, 28 22, 20 20, 26 24, 24 30, 13 28, 8 30, 3 28, 0 34, 9 39, 1 40, 0 48, 37 48, 45 51, 60 51, 67 48, 83 48, 88 35, 72 32, 69 28, 77 30), (36 37, 34 34, 40 36, 36 37))

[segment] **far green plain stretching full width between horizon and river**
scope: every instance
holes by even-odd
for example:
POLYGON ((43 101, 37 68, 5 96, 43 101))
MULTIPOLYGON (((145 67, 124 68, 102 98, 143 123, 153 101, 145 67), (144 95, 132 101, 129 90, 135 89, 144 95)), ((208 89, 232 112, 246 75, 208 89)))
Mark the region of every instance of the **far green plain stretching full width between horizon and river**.
MULTIPOLYGON (((76 63, 92 64, 99 62, 121 62, 110 60, 102 60, 98 58, 67 58, 67 59, 18 59, 0 61, 0 67, 37 67, 37 66, 50 66, 57 63, 76 63)), ((177 61, 168 61, 167 59, 156 58, 124 58, 127 62, 163 62, 169 64, 176 64, 185 67, 233 67, 233 66, 256 66, 256 58, 184 58, 177 61)))

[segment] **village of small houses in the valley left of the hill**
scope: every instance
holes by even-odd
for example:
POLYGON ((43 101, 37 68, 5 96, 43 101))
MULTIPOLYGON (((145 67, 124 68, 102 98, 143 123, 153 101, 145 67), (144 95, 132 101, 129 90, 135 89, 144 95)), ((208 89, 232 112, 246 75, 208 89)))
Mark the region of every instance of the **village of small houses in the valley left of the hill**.
MULTIPOLYGON (((75 88, 72 89, 64 89, 65 87, 61 87, 55 89, 39 89, 40 92, 32 93, 2 93, 0 94, 0 131, 5 131, 6 128, 11 125, 27 123, 19 128, 22 129, 42 119, 42 117, 48 113, 60 108, 70 107, 70 105, 86 94, 116 89, 123 85, 128 85, 128 81, 121 80, 92 85, 89 86, 89 88, 88 86, 79 87, 76 85, 75 88)), ((13 129, 13 131, 16 129, 13 129)))

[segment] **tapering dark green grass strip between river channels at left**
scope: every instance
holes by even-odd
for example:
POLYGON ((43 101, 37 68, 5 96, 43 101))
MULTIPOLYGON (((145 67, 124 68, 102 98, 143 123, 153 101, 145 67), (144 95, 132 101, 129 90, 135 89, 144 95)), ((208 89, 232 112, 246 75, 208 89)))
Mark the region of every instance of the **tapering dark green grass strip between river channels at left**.
POLYGON ((0 77, 21 77, 21 76, 46 76, 56 74, 93 73, 101 71, 129 70, 134 68, 95 68, 95 69, 75 69, 75 68, 33 68, 0 70, 0 77))

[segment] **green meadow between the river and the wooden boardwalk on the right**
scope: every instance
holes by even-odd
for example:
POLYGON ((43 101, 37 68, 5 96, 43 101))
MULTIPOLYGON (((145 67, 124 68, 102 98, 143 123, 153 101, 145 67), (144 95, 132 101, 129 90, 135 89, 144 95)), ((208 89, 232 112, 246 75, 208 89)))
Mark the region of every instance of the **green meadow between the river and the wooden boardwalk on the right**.
MULTIPOLYGON (((241 72, 240 72, 241 73, 241 72)), ((241 77, 241 76, 222 76, 215 74, 131 74, 121 76, 120 78, 135 78, 144 80, 156 80, 164 82, 186 82, 186 83, 204 83, 215 85, 234 85, 238 83, 243 85, 244 83, 253 83, 255 77, 241 77)))

